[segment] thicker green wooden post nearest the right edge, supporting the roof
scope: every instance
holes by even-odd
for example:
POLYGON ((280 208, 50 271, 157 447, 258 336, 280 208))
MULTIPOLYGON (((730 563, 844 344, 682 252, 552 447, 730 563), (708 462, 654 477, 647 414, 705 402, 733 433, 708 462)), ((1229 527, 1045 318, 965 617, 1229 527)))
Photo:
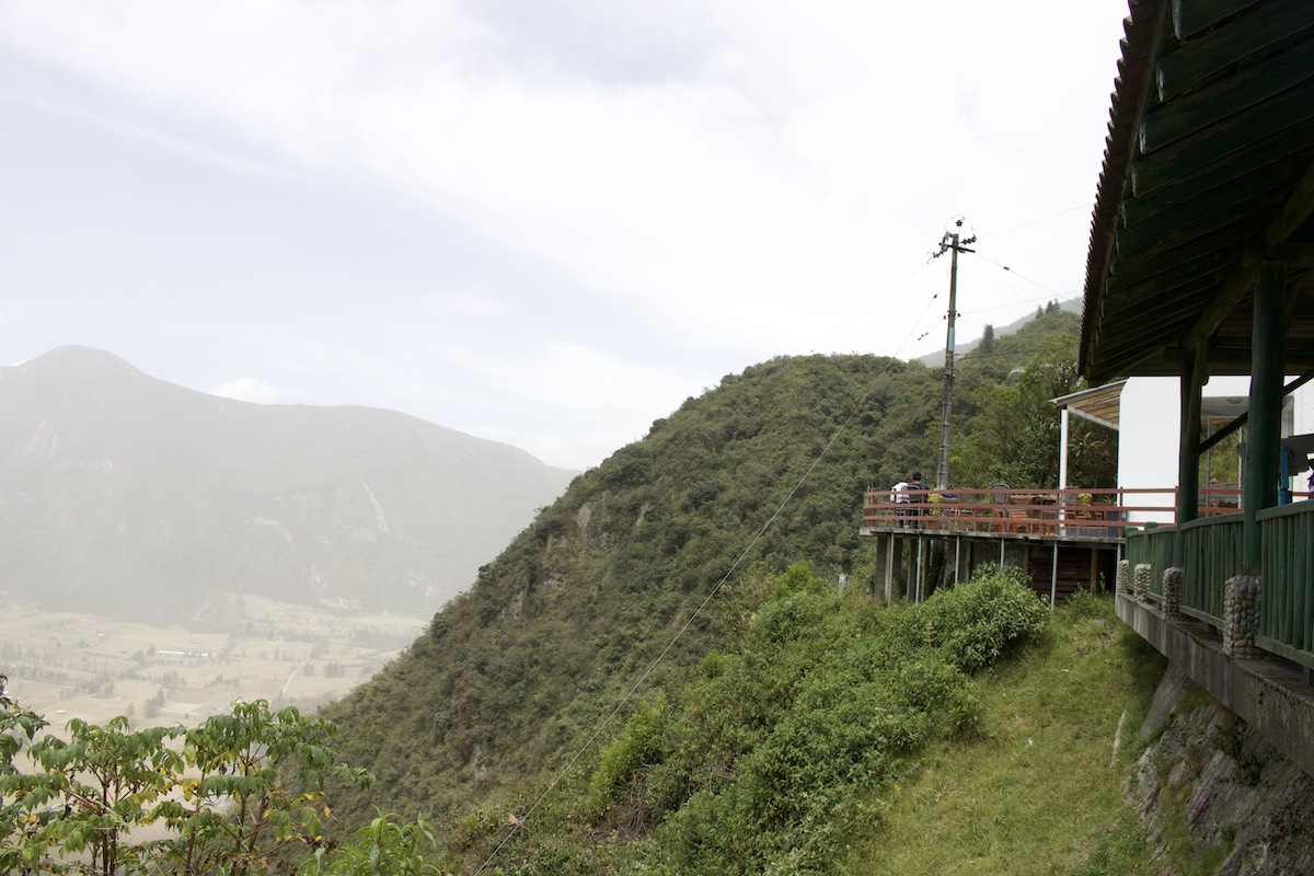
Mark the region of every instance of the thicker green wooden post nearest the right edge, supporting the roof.
POLYGON ((1246 527, 1246 569, 1260 571, 1263 542, 1256 515, 1277 504, 1279 444, 1281 441, 1282 382, 1286 348, 1286 269, 1261 261, 1255 280, 1251 332, 1250 416, 1246 471, 1242 479, 1246 527))

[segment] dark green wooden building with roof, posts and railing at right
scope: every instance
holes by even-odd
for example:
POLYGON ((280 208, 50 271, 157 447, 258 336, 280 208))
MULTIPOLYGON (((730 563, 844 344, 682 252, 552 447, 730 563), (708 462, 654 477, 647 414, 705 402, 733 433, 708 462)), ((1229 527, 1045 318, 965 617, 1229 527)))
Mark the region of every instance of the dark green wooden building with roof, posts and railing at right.
POLYGON ((1176 525, 1129 533, 1118 613, 1314 775, 1314 502, 1279 495, 1282 399, 1314 378, 1314 3, 1130 12, 1080 368, 1175 377, 1181 415, 1176 525), (1215 374, 1250 377, 1242 507, 1198 517, 1215 374))

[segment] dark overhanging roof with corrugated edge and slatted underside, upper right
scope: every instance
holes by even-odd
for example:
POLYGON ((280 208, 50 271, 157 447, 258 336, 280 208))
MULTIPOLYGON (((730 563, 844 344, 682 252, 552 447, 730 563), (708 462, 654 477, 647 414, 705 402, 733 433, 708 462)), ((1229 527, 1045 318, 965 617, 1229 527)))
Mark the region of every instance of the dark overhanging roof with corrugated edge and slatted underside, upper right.
POLYGON ((1081 373, 1248 373, 1251 282, 1286 264, 1286 370, 1314 368, 1314 3, 1130 4, 1091 223, 1081 373))

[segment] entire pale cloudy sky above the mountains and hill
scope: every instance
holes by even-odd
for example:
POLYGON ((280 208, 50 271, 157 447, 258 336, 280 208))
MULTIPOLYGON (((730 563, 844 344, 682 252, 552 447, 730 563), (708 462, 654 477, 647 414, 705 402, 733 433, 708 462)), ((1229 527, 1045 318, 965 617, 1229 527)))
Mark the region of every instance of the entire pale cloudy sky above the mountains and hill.
POLYGON ((1126 0, 0 0, 0 365, 589 469, 1077 298, 1126 0), (963 225, 955 225, 958 218, 963 225))

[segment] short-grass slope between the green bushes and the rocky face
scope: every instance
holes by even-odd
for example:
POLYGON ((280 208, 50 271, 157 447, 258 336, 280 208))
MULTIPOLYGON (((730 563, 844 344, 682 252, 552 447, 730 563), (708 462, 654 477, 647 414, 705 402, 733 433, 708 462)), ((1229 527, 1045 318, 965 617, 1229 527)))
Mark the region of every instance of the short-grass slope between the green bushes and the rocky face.
POLYGON ((841 872, 1154 872, 1122 788, 1162 674, 1108 599, 1060 609, 1046 644, 976 676, 979 733, 926 753, 841 872))

